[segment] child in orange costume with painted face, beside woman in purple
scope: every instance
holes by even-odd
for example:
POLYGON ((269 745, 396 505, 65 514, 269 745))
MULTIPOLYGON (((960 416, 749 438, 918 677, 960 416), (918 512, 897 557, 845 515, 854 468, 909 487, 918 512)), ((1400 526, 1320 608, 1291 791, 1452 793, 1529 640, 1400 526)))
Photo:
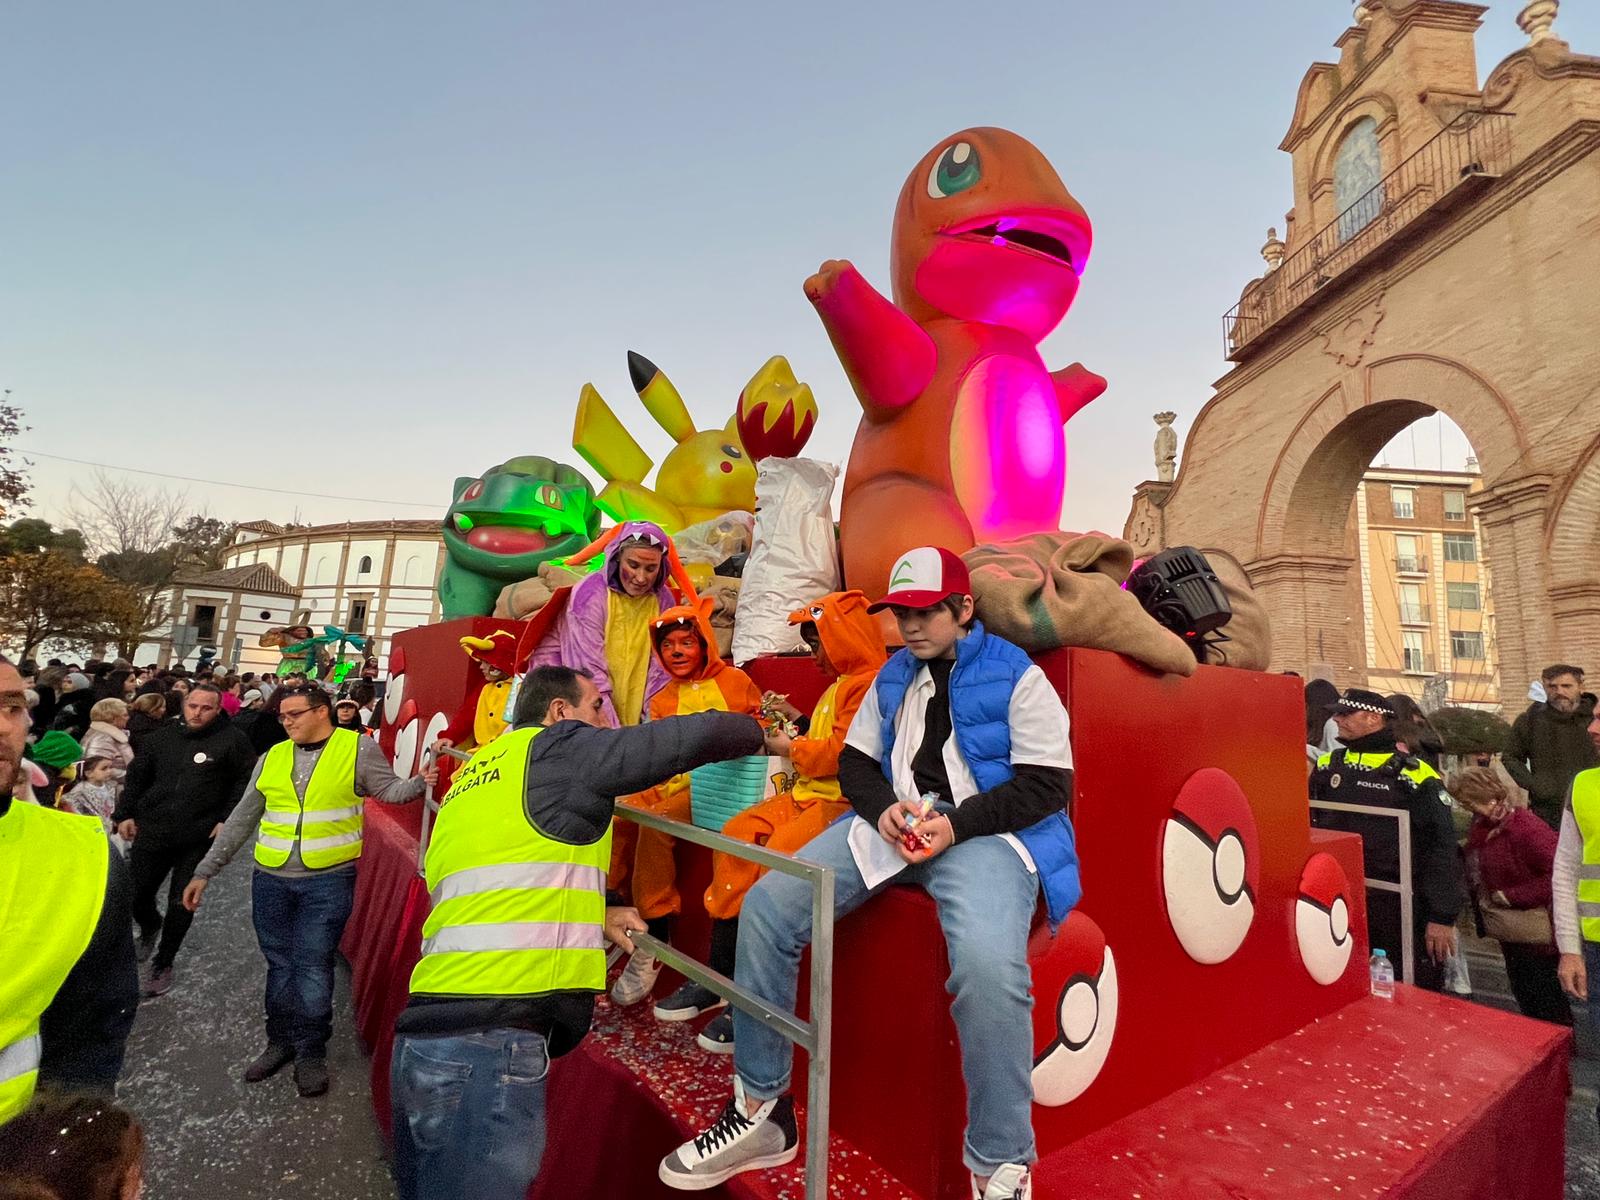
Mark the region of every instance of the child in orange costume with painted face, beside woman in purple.
MULTIPOLYGON (((669 682, 650 699, 650 718, 683 717, 691 712, 746 712, 752 717, 762 710, 762 690, 749 675, 722 661, 717 651, 717 635, 710 629, 714 600, 699 597, 691 605, 666 610, 650 622, 650 642, 656 661, 666 669, 669 682)), ((675 774, 664 784, 624 798, 621 803, 648 808, 674 821, 690 819, 690 778, 675 774)), ((632 822, 627 822, 632 824, 632 822)), ((669 918, 682 910, 678 896, 677 862, 672 858, 675 840, 654 829, 638 827, 637 846, 632 854, 634 906, 651 925, 651 933, 666 941, 669 918)), ((611 877, 608 885, 618 890, 627 877, 627 851, 618 853, 613 842, 611 877)), ((637 1005, 656 984, 661 963, 646 950, 635 950, 627 968, 611 987, 611 1000, 618 1005, 637 1005)))

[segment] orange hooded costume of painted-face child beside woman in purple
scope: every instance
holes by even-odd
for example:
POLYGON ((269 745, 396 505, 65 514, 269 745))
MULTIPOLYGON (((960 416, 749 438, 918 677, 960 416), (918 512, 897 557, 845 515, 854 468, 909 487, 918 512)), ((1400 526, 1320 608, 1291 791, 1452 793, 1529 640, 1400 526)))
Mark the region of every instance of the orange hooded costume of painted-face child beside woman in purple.
MULTIPOLYGON (((650 642, 656 661, 670 675, 667 685, 650 699, 650 718, 686 717, 693 712, 746 712, 760 715, 762 690, 749 675, 722 661, 717 653, 717 635, 710 627, 714 608, 710 597, 694 603, 666 610, 650 622, 650 642), (678 630, 693 629, 704 646, 704 661, 688 677, 672 675, 670 664, 662 656, 662 640, 678 630)), ((837 762, 837 758, 835 758, 837 762)), ((675 774, 664 784, 646 792, 626 797, 621 803, 648 808, 674 821, 690 819, 690 778, 675 774)), ((642 829, 632 821, 618 821, 611 834, 610 886, 619 888, 634 869, 634 904, 646 920, 675 914, 683 907, 677 886, 677 864, 672 858, 674 838, 642 829), (637 843, 637 845, 635 845, 637 843)))

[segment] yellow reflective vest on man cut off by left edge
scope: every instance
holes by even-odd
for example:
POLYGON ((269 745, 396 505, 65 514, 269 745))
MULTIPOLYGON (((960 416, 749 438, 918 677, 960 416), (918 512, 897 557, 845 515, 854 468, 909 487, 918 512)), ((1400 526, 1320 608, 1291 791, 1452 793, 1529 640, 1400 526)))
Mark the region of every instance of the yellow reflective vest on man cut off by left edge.
POLYGON ((38 1078, 38 1019, 83 957, 106 902, 99 819, 11 802, 0 816, 0 1122, 38 1078))

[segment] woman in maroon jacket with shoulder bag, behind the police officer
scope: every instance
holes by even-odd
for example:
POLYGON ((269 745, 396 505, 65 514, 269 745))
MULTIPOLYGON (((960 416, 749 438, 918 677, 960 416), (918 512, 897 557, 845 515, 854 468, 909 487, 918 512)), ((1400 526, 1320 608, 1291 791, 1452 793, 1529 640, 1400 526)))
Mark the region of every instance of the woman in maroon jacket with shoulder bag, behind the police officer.
POLYGON ((1486 766, 1458 771, 1450 794, 1474 813, 1464 846, 1467 880, 1485 931, 1499 942, 1517 1008, 1534 1021, 1571 1027, 1550 923, 1555 832, 1526 808, 1514 808, 1506 784, 1486 766), (1534 917, 1504 920, 1507 914, 1534 917), (1534 931, 1539 941, 1531 939, 1534 931))

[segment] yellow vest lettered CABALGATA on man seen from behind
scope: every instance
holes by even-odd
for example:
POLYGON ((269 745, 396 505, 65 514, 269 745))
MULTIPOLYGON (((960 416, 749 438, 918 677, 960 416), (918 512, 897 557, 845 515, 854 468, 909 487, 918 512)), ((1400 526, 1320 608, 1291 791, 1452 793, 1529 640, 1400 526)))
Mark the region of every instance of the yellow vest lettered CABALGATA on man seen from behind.
POLYGON ((424 859, 434 907, 413 995, 605 990, 611 834, 566 845, 528 819, 528 742, 539 733, 507 730, 445 794, 424 859))

